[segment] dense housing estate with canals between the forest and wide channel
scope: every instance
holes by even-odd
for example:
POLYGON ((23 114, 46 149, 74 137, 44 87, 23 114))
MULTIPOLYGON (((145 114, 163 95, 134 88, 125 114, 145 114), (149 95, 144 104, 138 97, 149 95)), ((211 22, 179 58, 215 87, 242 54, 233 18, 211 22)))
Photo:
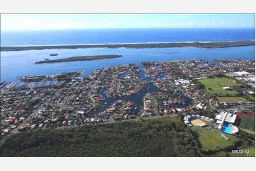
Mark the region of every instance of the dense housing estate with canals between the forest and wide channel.
POLYGON ((204 60, 142 62, 141 65, 145 76, 152 81, 143 79, 138 66, 128 64, 96 69, 89 77, 77 71, 55 76, 23 76, 21 86, 5 84, 1 90, 1 135, 177 114, 186 116, 184 123, 188 126, 207 126, 205 122, 210 122, 214 129, 237 134, 240 130, 237 111, 255 105, 252 73, 234 72, 232 68, 204 60), (145 93, 143 107, 131 100, 108 105, 107 99, 147 92, 150 83, 162 91, 145 93), (227 109, 234 112, 225 112, 227 109), (218 114, 211 117, 196 114, 206 110, 217 110, 218 114), (198 123, 193 124, 196 119, 198 123))

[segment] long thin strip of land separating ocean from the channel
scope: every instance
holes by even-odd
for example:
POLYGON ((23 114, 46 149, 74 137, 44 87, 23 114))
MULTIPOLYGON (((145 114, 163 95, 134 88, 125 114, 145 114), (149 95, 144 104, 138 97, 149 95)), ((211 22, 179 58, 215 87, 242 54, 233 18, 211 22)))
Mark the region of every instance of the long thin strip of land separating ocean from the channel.
POLYGON ((230 42, 170 42, 170 43, 138 43, 138 44, 115 44, 115 45, 52 45, 52 46, 24 46, 24 47, 1 47, 1 51, 22 51, 40 49, 85 49, 85 48, 168 48, 168 47, 201 47, 221 48, 240 47, 255 45, 255 41, 241 40, 230 42))

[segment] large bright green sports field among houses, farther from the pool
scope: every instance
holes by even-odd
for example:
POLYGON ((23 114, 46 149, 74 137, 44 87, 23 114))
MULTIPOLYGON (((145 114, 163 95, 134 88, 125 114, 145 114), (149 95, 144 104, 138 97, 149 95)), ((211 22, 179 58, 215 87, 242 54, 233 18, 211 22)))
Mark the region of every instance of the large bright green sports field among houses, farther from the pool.
POLYGON ((205 78, 199 80, 206 87, 207 93, 217 93, 217 94, 237 94, 237 90, 224 90, 223 87, 229 86, 240 86, 240 83, 234 83, 233 79, 230 78, 205 78), (208 90, 211 88, 212 90, 208 90))

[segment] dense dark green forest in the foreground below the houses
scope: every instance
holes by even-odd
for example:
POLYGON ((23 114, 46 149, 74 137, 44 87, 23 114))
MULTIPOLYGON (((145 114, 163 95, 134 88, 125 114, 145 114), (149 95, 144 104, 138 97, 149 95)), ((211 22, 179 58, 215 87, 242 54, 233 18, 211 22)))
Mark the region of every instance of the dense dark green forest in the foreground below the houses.
POLYGON ((182 116, 138 122, 35 129, 6 138, 1 156, 200 156, 182 116))

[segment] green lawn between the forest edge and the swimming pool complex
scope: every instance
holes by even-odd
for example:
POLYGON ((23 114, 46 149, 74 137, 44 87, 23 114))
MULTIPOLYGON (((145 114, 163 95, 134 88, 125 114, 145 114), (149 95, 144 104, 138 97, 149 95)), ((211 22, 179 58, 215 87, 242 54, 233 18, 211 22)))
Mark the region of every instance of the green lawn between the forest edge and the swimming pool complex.
MULTIPOLYGON (((214 149, 214 146, 225 147, 233 145, 233 143, 238 140, 235 136, 225 134, 230 140, 226 140, 221 136, 222 132, 211 130, 211 131, 201 131, 199 132, 199 141, 201 141, 203 148, 205 150, 214 149)), ((224 134, 224 133, 223 133, 224 134)))

